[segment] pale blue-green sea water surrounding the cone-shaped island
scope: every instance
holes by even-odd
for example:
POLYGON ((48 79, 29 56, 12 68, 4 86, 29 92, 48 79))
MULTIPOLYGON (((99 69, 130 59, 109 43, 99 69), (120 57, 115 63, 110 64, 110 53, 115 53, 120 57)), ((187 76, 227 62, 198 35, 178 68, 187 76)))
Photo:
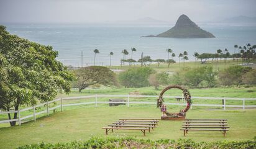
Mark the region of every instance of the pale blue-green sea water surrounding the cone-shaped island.
MULTIPOLYGON (((122 50, 130 52, 137 48, 133 58, 138 60, 142 52, 152 59, 167 59, 165 49, 171 48, 178 55, 187 51, 190 60, 193 53, 213 53, 227 48, 234 53, 234 45, 256 44, 255 26, 200 25, 216 38, 140 38, 142 35, 156 35, 170 29, 168 26, 104 26, 104 25, 6 25, 11 34, 19 35, 43 45, 51 45, 59 53, 58 60, 65 65, 93 65, 97 48, 96 65, 109 65, 109 52, 114 52, 112 65, 120 65, 122 50)), ((130 54, 126 58, 130 58, 130 54)), ((174 58, 178 61, 178 58, 174 58)))

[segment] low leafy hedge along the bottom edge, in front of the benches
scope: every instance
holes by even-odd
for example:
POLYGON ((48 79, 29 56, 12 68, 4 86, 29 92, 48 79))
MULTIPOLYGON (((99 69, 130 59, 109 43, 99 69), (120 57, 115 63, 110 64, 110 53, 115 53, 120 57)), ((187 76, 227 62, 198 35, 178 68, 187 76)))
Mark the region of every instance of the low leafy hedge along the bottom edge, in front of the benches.
POLYGON ((19 147, 18 149, 58 149, 58 148, 232 148, 232 149, 240 149, 240 148, 255 148, 256 142, 255 140, 247 140, 241 142, 194 142, 191 139, 179 139, 169 140, 169 139, 161 139, 161 140, 145 140, 145 139, 137 139, 137 138, 91 138, 86 142, 70 142, 70 143, 38 143, 32 145, 24 145, 19 147))

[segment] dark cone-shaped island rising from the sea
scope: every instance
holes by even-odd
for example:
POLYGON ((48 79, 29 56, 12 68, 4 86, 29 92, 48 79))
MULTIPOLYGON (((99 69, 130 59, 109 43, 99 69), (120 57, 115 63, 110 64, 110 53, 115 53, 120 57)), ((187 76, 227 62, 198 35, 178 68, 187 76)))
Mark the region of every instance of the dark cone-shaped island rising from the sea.
POLYGON ((214 38, 215 36, 201 29, 185 14, 181 15, 175 26, 170 30, 158 35, 147 35, 142 37, 166 37, 166 38, 214 38))

